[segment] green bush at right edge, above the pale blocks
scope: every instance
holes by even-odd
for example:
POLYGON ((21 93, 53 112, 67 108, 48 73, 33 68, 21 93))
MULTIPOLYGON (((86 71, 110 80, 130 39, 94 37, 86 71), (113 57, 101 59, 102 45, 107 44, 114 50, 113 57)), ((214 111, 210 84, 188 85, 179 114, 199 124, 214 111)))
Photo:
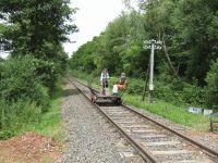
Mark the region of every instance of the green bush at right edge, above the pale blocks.
POLYGON ((218 59, 207 73, 206 83, 207 104, 218 110, 218 59))

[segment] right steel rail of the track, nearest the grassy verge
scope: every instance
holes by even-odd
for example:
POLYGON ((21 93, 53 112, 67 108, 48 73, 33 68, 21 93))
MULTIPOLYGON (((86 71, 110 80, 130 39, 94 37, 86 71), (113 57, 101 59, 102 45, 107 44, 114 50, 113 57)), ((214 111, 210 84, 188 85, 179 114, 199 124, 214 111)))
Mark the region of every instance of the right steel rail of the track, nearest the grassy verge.
MULTIPOLYGON (((77 79, 75 79, 75 80, 76 80, 77 83, 80 83, 81 85, 83 85, 83 86, 85 86, 85 87, 87 87, 87 88, 89 88, 89 89, 93 89, 93 88, 86 86, 85 84, 78 82, 77 79)), ((94 89, 94 91, 98 92, 98 91, 95 90, 95 89, 94 89)), ((138 111, 133 110, 132 108, 130 108, 130 106, 128 106, 128 105, 125 105, 125 104, 122 104, 121 106, 124 106, 125 109, 131 110, 132 112, 136 113, 136 114, 140 115, 141 117, 147 118, 148 121, 155 123, 156 125, 158 125, 158 126, 160 126, 160 127, 162 127, 162 128, 165 128, 165 129, 167 129, 167 130, 173 133, 174 135, 177 135, 177 136, 183 138, 183 139, 186 140, 187 142, 190 142, 190 143, 192 143, 192 145, 194 145, 194 146, 196 146, 196 147, 203 149, 207 154, 209 154, 209 155, 213 154, 213 156, 215 155, 215 156, 218 158, 218 151, 215 151, 215 150, 213 150, 213 149, 210 149, 210 148, 204 146, 203 143, 193 140, 192 138, 185 136, 184 134, 181 134, 181 133, 177 131, 175 129, 170 128, 170 127, 168 127, 168 126, 166 126, 166 125, 164 125, 164 124, 161 124, 161 123, 159 123, 159 122, 153 120, 152 117, 148 117, 148 116, 146 116, 146 115, 140 113, 138 111)))

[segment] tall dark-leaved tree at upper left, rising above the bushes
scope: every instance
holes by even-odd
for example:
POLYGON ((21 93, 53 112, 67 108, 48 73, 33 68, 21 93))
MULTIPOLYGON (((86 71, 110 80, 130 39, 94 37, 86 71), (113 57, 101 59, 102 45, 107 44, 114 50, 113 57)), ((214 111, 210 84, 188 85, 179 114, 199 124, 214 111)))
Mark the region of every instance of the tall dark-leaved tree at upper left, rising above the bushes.
POLYGON ((76 10, 70 9, 69 3, 69 0, 0 1, 0 18, 7 22, 7 28, 0 30, 3 41, 10 45, 11 57, 33 55, 43 60, 39 63, 44 70, 37 72, 50 88, 66 64, 62 42, 69 40, 66 35, 77 30, 70 22, 76 10))

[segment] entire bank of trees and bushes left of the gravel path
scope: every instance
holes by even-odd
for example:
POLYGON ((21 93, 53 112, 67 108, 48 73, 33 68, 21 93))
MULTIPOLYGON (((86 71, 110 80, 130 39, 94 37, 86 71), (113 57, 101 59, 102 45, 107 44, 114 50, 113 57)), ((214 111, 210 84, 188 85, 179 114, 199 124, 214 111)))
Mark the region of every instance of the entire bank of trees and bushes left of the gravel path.
POLYGON ((1 0, 0 139, 16 134, 49 111, 50 96, 64 74, 62 42, 76 32, 68 0, 1 0))

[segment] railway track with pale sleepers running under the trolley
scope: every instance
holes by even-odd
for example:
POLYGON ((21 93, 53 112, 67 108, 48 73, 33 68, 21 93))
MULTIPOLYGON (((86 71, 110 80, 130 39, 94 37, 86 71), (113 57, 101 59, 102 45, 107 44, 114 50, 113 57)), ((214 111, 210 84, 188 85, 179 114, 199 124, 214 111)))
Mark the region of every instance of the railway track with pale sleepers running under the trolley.
MULTIPOLYGON (((70 82, 90 101, 88 86, 70 82)), ((194 141, 178 131, 146 117, 126 106, 99 106, 93 103, 144 160, 154 163, 214 163, 218 162, 218 152, 194 141)))

